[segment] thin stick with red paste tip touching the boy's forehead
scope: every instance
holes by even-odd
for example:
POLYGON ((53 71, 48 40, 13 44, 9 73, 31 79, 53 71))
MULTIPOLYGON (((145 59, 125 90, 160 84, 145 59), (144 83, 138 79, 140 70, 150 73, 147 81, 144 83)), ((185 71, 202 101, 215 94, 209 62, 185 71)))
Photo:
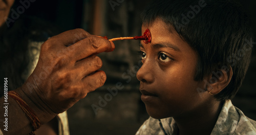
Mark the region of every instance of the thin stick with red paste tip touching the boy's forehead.
MULTIPOLYGON (((100 36, 98 36, 100 37, 100 36)), ((107 36, 104 36, 102 38, 108 39, 107 36)), ((135 36, 135 37, 117 37, 117 38, 112 38, 109 39, 110 41, 116 41, 116 40, 125 40, 125 39, 135 39, 135 40, 143 40, 144 43, 149 43, 151 42, 151 33, 150 30, 146 29, 144 32, 143 36, 135 36)))

